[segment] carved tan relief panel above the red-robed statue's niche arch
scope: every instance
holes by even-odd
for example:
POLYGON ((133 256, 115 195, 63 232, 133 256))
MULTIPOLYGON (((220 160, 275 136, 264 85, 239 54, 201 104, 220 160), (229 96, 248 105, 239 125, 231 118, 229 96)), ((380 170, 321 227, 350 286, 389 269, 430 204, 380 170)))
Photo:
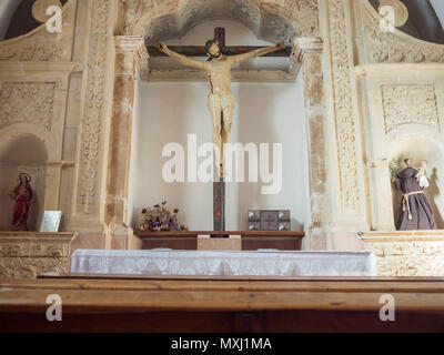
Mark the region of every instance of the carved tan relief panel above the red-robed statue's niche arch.
POLYGON ((33 123, 51 131, 56 83, 4 82, 0 90, 0 129, 33 123))

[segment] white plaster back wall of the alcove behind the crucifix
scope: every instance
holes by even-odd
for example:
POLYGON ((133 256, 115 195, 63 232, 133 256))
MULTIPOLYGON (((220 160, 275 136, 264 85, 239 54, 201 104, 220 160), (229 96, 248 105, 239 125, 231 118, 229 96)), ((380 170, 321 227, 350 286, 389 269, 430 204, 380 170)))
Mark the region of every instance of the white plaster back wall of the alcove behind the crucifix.
MULTIPOLYGON (((194 34, 190 32, 192 39, 188 34, 176 43, 202 43, 213 37, 216 26, 228 29, 228 45, 265 43, 232 21, 206 22, 193 29, 191 32, 194 34)), ((262 61, 263 65, 272 68, 275 63, 282 65, 282 60, 262 61)), ((168 207, 180 209, 180 215, 190 230, 212 230, 212 183, 165 183, 161 175, 162 166, 169 160, 162 158, 164 144, 178 142, 186 146, 188 134, 193 133, 198 136, 198 144, 211 141, 208 83, 139 82, 137 91, 131 222, 138 220, 144 206, 167 200, 168 207)), ((245 230, 249 209, 289 209, 293 230, 303 230, 310 222, 310 207, 302 75, 294 83, 233 83, 232 91, 235 110, 230 141, 282 143, 283 184, 279 194, 263 195, 261 182, 228 183, 226 229, 245 230)))

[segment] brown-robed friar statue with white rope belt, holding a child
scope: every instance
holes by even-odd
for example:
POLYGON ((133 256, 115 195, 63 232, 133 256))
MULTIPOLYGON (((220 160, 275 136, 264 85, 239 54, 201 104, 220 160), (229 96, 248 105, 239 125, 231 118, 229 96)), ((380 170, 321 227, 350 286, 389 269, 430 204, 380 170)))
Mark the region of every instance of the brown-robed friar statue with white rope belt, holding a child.
POLYGON ((420 170, 412 166, 412 160, 408 158, 404 160, 404 164, 406 168, 394 178, 396 190, 403 194, 396 230, 436 230, 432 209, 424 193, 428 187, 427 162, 422 161, 420 170))

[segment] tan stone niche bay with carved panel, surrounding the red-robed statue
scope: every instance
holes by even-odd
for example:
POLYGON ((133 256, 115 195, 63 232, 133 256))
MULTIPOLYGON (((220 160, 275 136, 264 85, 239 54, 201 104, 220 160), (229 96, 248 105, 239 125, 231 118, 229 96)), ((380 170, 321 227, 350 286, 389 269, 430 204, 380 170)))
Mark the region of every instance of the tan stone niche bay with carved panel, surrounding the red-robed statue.
POLYGON ((65 115, 73 69, 74 64, 53 62, 0 65, 0 230, 11 226, 13 200, 8 194, 20 172, 32 179, 30 231, 39 230, 46 210, 69 214, 65 175, 73 162, 65 159, 65 115))

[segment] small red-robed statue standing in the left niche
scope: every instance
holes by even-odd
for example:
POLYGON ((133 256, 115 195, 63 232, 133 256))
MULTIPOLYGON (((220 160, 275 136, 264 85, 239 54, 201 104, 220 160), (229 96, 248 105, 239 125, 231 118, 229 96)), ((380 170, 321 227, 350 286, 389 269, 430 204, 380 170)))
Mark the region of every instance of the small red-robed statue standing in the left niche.
POLYGON ((21 173, 19 175, 19 184, 10 193, 10 196, 16 201, 12 217, 13 231, 28 231, 27 221, 33 195, 30 182, 31 176, 27 173, 21 173))

